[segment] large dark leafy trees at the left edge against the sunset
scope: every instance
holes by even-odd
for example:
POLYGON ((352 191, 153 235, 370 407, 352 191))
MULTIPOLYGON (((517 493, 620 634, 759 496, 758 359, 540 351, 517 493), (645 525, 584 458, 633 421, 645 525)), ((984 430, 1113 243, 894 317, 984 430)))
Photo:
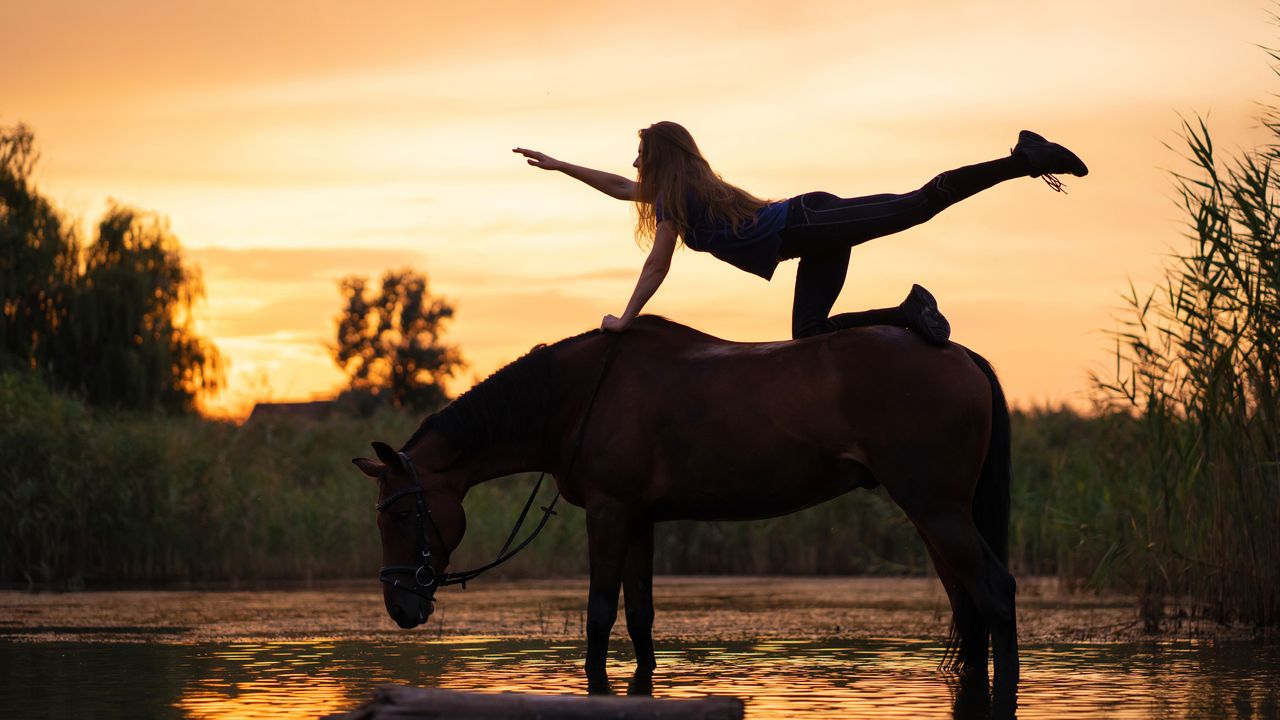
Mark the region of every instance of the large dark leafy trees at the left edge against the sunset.
POLYGON ((95 405, 192 410, 221 384, 195 333, 200 273, 168 220, 113 204, 82 249, 31 182, 29 129, 0 128, 0 366, 35 370, 95 405))

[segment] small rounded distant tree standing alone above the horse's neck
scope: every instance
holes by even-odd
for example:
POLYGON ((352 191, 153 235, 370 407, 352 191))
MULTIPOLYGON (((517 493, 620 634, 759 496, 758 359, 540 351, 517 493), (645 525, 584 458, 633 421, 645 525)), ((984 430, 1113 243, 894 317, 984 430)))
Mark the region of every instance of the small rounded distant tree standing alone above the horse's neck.
POLYGON ((443 341, 453 305, 430 293, 426 275, 408 269, 384 273, 376 293, 366 286, 356 275, 338 283, 346 305, 332 350, 351 391, 397 407, 439 407, 448 400, 444 380, 466 366, 457 347, 443 341))

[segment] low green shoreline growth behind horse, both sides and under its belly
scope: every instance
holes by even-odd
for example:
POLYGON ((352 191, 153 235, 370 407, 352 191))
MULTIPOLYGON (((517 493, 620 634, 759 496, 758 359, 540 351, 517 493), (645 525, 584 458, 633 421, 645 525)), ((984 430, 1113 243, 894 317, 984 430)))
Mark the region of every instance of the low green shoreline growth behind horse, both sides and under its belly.
MULTIPOLYGON (((375 492, 349 460, 365 452, 367 438, 408 437, 420 419, 384 409, 367 418, 237 425, 91 409, 31 375, 0 373, 0 454, 9 459, 0 488, 0 583, 234 589, 355 578, 374 587, 375 492)), ((1140 419, 1015 410, 1012 430, 1015 575, 1051 577, 1068 593, 1124 596, 1129 616, 1149 632, 1189 624, 1204 632, 1221 620, 1238 634, 1239 621, 1248 623, 1220 615, 1190 588, 1152 602, 1155 591, 1140 570, 1160 551, 1132 525, 1151 488, 1137 475, 1148 461, 1139 452, 1140 419)), ((457 566, 492 557, 534 479, 515 475, 467 496, 457 566)), ((543 493, 545 502, 548 488, 543 493)), ((493 577, 584 577, 582 511, 562 503, 558 514, 493 577)), ((852 492, 774 520, 667 523, 655 541, 660 575, 931 573, 914 528, 882 491, 852 492)))

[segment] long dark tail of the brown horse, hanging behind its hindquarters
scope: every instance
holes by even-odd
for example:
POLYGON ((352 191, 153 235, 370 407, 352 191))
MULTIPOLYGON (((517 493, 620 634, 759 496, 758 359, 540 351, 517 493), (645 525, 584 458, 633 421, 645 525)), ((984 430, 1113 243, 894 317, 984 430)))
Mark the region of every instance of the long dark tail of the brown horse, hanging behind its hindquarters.
MULTIPOLYGON (((974 365, 987 375, 991 384, 991 439, 987 442, 987 457, 982 461, 982 474, 978 475, 978 486, 973 493, 973 523, 978 527, 978 534, 987 542, 1000 562, 1009 566, 1009 493, 1012 464, 1010 460, 1010 427, 1009 404, 1005 400, 1005 391, 1000 386, 996 370, 992 369, 982 355, 966 350, 974 365)), ((947 650, 942 656, 942 666, 946 669, 963 671, 965 656, 970 652, 961 652, 961 638, 986 638, 988 628, 977 609, 956 612, 952 618, 951 637, 947 639, 947 650), (965 624, 965 626, 961 626, 965 624)), ((973 648, 974 652, 978 648, 973 648)), ((980 655, 986 659, 987 647, 983 642, 980 655)), ((986 661, 986 660, 983 660, 986 661)))

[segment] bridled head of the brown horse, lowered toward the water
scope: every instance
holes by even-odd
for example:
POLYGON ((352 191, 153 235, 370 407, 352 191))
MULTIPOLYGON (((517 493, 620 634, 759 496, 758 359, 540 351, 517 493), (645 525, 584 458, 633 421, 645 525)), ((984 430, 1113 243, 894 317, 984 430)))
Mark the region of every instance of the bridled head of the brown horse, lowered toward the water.
POLYGON ((431 615, 449 555, 462 542, 462 498, 428 468, 387 443, 375 442, 378 460, 352 462, 378 479, 378 532, 383 538, 383 601, 401 628, 416 628, 431 615))

